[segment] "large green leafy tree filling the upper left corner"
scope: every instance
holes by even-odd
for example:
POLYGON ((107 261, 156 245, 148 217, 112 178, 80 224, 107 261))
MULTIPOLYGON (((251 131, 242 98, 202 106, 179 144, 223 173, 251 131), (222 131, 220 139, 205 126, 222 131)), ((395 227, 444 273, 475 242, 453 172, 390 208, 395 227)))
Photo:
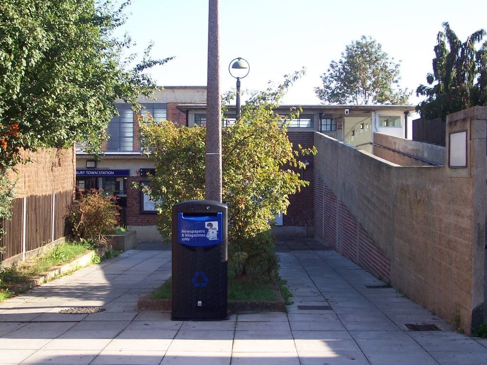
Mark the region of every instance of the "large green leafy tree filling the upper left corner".
POLYGON ((123 59, 117 39, 124 8, 96 0, 9 0, 0 4, 0 169, 19 149, 99 148, 115 101, 137 105, 155 87, 145 70, 161 65, 149 49, 140 64, 123 59))

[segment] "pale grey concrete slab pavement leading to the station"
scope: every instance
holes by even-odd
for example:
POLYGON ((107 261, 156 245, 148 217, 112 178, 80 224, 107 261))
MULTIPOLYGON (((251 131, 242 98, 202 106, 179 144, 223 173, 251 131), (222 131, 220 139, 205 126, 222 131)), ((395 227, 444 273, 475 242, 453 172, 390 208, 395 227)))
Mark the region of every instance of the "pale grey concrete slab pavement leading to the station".
POLYGON ((220 322, 135 311, 139 297, 169 278, 170 251, 132 250, 81 269, 0 304, 0 364, 487 363, 487 340, 451 331, 337 252, 278 255, 294 294, 288 313, 220 322), (59 312, 82 307, 104 311, 59 312))

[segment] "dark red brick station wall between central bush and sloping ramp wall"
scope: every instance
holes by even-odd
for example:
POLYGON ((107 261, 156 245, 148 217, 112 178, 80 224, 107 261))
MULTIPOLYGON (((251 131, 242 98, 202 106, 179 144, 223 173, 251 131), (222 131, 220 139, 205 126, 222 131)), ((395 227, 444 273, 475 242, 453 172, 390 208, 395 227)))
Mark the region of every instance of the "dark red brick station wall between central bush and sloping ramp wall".
MULTIPOLYGON (((314 132, 288 131, 287 136, 289 141, 293 144, 293 148, 297 148, 298 144, 303 148, 311 148, 314 143, 314 132)), ((300 157, 300 161, 307 160, 310 164, 306 169, 294 169, 298 172, 303 180, 309 181, 310 185, 301 188, 301 191, 289 197, 289 207, 287 214, 282 219, 284 226, 313 226, 314 225, 314 186, 313 186, 313 155, 300 157)))

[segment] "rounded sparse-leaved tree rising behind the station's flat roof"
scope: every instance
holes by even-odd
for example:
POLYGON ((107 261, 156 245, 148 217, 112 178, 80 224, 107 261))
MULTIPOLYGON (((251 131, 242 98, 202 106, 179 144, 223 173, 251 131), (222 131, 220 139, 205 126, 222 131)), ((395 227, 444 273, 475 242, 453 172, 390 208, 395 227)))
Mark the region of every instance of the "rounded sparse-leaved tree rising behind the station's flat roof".
POLYGON ((372 37, 360 37, 345 47, 321 76, 318 98, 331 104, 408 104, 411 93, 399 88, 399 64, 372 37))

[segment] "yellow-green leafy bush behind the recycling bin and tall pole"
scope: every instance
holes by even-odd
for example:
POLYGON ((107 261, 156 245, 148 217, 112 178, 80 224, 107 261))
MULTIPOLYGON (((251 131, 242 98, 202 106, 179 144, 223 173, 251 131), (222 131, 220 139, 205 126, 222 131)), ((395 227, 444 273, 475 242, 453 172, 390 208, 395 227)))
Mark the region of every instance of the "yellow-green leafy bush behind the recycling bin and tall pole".
MULTIPOLYGON (((299 156, 315 150, 293 149, 286 135, 286 120, 298 110, 288 116, 273 112, 299 75, 287 77, 276 89, 252 93, 241 119, 222 131, 222 201, 228 206, 229 262, 236 274, 272 274, 277 261, 274 241, 266 233, 269 220, 278 212, 285 213, 288 196, 309 184, 292 167, 304 168, 299 156)), ((145 192, 160 201, 158 229, 169 238, 172 206, 204 199, 206 128, 145 122, 141 126, 142 145, 157 168, 145 192)))

